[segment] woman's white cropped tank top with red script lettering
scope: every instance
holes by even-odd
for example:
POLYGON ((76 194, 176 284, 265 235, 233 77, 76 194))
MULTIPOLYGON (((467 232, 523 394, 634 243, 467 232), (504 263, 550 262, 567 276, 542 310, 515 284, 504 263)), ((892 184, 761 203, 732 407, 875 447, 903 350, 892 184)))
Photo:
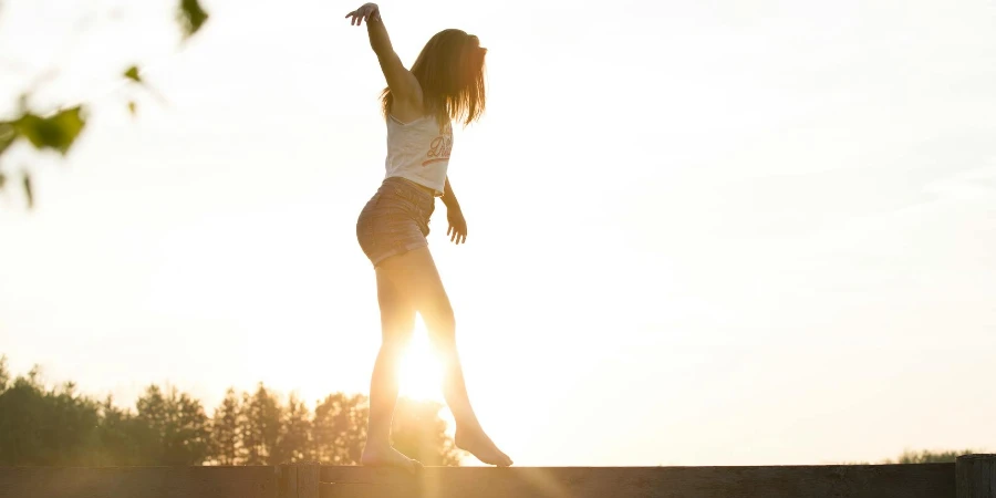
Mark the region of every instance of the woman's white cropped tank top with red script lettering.
POLYGON ((434 115, 411 123, 387 117, 387 169, 385 178, 402 177, 424 185, 443 196, 449 152, 453 149, 453 125, 440 128, 434 115))

